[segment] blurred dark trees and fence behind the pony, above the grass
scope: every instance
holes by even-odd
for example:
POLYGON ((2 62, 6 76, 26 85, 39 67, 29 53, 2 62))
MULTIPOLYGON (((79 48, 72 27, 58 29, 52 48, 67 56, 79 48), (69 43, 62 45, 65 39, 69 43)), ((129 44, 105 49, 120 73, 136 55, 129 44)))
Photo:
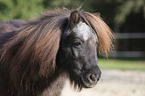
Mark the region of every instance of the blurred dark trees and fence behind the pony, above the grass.
POLYGON ((100 13, 116 37, 112 58, 145 58, 145 0, 0 0, 0 21, 34 19, 52 8, 100 13))

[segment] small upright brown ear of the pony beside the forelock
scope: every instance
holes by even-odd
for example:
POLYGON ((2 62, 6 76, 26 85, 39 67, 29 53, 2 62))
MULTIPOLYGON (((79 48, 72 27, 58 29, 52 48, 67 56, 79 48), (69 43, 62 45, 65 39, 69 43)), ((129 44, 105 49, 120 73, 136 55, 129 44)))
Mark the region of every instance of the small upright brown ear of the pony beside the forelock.
POLYGON ((70 27, 75 27, 80 22, 80 14, 78 10, 74 10, 70 14, 70 27))

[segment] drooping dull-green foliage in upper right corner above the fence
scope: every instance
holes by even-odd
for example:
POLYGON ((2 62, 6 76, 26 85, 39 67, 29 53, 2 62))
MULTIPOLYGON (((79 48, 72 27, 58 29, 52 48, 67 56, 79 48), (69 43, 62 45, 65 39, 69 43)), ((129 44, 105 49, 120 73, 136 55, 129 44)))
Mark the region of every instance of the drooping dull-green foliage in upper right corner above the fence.
POLYGON ((126 17, 131 13, 138 13, 140 10, 144 13, 145 18, 145 0, 122 0, 119 6, 118 13, 115 16, 115 21, 118 24, 124 23, 126 17))

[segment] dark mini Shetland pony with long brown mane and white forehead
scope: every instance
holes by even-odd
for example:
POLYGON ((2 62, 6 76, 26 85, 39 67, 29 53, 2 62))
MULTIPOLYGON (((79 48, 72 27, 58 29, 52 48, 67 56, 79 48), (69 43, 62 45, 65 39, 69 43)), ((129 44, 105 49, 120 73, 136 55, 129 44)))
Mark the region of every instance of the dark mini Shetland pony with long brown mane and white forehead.
POLYGON ((101 75, 97 50, 107 55, 112 39, 99 15, 78 9, 0 22, 3 94, 60 96, 66 78, 80 89, 93 87, 101 75))

